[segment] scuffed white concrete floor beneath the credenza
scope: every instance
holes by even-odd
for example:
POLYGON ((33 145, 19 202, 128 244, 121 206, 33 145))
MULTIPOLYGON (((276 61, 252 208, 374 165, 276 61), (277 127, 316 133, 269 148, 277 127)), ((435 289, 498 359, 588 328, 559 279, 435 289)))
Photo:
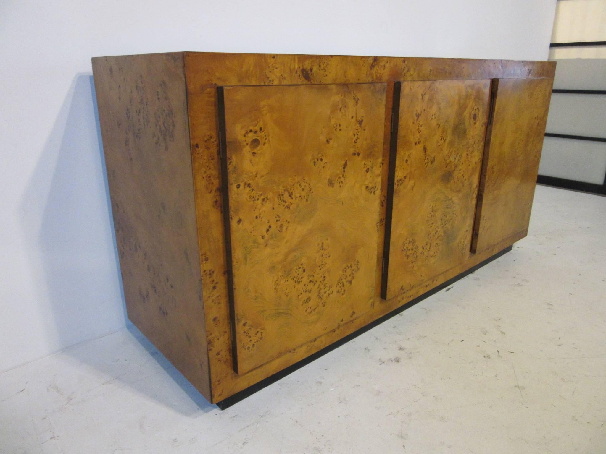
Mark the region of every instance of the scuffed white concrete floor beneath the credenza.
POLYGON ((0 375, 1 453, 604 453, 606 197, 221 412, 136 329, 0 375))

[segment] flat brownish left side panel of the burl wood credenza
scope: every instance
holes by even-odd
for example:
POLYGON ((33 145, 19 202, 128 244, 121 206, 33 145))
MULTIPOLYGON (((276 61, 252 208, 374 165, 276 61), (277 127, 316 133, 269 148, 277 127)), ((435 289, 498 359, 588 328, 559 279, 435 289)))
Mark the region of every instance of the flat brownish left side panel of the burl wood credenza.
POLYGON ((183 54, 93 74, 128 318, 211 400, 183 54))

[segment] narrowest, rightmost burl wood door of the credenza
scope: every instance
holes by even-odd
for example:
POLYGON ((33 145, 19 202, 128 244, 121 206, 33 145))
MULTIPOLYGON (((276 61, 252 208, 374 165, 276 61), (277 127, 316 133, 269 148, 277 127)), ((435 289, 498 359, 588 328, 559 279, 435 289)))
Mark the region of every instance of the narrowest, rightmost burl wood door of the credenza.
POLYGON ((493 110, 482 164, 472 252, 528 231, 552 79, 493 82, 493 110))

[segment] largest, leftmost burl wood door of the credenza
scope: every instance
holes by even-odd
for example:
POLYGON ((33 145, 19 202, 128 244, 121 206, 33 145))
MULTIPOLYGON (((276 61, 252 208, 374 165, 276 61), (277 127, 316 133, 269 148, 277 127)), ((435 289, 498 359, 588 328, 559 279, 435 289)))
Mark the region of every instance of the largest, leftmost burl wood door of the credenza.
POLYGON ((371 308, 385 88, 219 88, 237 373, 371 308))

